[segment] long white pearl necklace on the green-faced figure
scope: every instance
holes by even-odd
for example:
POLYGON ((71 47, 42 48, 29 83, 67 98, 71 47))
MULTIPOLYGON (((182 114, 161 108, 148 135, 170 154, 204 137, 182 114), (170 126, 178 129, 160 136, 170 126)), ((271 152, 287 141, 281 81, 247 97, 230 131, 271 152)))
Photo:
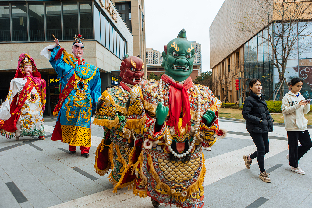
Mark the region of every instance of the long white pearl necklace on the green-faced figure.
MULTIPOLYGON (((198 135, 198 130, 199 130, 199 124, 200 124, 200 122, 201 122, 201 111, 202 111, 202 110, 201 110, 201 109, 202 109, 202 107, 201 107, 201 106, 202 106, 201 101, 202 101, 202 99, 201 99, 201 97, 200 97, 200 91, 199 91, 199 89, 198 89, 197 86, 194 84, 194 82, 192 82, 192 84, 193 84, 193 86, 194 86, 194 88, 195 88, 195 91, 196 91, 196 93, 197 93, 198 108, 197 108, 197 122, 196 122, 196 125, 195 125, 194 127, 191 128, 191 132, 194 133, 193 141, 192 141, 192 143, 191 143, 191 146, 188 148, 188 150, 187 150, 186 152, 183 152, 183 153, 181 153, 181 154, 178 154, 178 153, 176 153, 176 152, 173 151, 173 149, 171 148, 170 145, 167 144, 168 149, 169 149, 169 151, 171 152, 171 154, 173 154, 174 157, 178 157, 178 158, 183 158, 183 157, 185 157, 186 155, 188 155, 188 154, 192 151, 192 149, 193 149, 193 147, 194 147, 194 145, 195 145, 195 143, 196 143, 196 140, 197 140, 197 139, 200 140, 199 135, 198 135), (197 138, 197 139, 196 139, 196 138, 197 138)), ((158 87, 158 88, 159 88, 160 102, 163 103, 163 80, 162 80, 162 79, 159 80, 159 87, 158 87)))

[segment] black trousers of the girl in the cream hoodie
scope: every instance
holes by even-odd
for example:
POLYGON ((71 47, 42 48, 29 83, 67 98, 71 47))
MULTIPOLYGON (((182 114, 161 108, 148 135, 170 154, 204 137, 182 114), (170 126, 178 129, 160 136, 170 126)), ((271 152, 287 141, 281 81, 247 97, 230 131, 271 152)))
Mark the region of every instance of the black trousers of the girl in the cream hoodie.
POLYGON ((308 130, 304 133, 300 131, 287 131, 289 165, 298 167, 298 162, 312 147, 312 142, 308 130), (298 141, 300 146, 298 147, 298 141))

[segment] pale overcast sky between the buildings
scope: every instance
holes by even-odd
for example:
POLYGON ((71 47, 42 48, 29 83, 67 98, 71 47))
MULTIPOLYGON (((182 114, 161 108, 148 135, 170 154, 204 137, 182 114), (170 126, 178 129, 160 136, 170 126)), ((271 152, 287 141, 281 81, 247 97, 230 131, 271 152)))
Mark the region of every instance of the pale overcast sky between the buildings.
POLYGON ((163 46, 185 28, 189 41, 202 45, 202 71, 210 70, 209 27, 223 0, 145 0, 146 47, 163 46))

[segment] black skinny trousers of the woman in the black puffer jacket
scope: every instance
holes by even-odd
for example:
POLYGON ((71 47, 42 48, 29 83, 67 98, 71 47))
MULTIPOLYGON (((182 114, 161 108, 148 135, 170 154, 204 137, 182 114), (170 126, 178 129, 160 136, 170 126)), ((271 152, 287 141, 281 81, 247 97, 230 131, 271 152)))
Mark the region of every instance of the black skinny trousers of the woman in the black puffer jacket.
POLYGON ((264 169, 264 155, 269 152, 269 137, 268 133, 251 133, 249 132, 252 140, 254 141, 257 151, 250 155, 250 158, 258 158, 258 165, 260 172, 265 172, 264 169))

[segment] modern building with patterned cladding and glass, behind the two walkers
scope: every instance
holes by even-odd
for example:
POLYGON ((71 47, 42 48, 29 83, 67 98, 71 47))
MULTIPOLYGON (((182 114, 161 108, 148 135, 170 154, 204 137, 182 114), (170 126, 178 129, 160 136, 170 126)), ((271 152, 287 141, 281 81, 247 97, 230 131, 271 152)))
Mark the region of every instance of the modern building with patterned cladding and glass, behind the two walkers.
MULTIPOLYGON (((280 42, 277 41, 281 29, 281 16, 276 8, 280 8, 281 1, 268 1, 273 6, 271 10, 267 10, 270 11, 267 13, 258 2, 256 0, 224 1, 209 28, 210 68, 213 79, 219 80, 217 96, 223 102, 238 101, 240 96, 235 89, 235 80, 238 79, 239 72, 242 75, 242 91, 245 96, 249 94, 249 81, 258 78, 261 80, 265 99, 269 99, 272 95, 270 98, 272 100, 276 94, 276 100, 279 100, 280 92, 276 92, 279 88, 277 85, 280 81, 280 74, 274 63, 276 60, 280 61, 282 59, 280 55, 283 54, 280 42), (251 22, 253 22, 252 25, 251 22), (267 22, 264 27, 262 27, 263 22, 267 22), (277 44, 274 49, 280 55, 276 57, 269 42, 270 38, 273 43, 275 41, 277 44)), ((312 22, 310 22, 311 12, 306 12, 306 10, 311 11, 311 1, 298 1, 296 5, 299 5, 298 8, 305 12, 297 19, 286 20, 288 23, 285 26, 290 28, 288 33, 290 36, 285 33, 284 39, 288 36, 290 40, 295 41, 287 60, 285 78, 287 82, 293 77, 303 79, 303 88, 300 92, 305 98, 310 98, 312 96, 312 50, 310 47, 312 22)), ((289 5, 288 14, 292 14, 294 7, 295 5, 289 5)), ((285 82, 283 84, 285 94, 289 89, 285 82)))

